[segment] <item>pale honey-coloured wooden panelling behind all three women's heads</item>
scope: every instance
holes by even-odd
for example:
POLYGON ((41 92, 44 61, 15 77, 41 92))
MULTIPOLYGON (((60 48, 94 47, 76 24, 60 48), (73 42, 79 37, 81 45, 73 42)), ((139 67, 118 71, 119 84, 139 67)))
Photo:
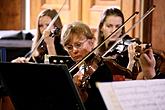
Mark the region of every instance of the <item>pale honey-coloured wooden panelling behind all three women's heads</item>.
MULTIPOLYGON (((35 8, 54 8, 56 10, 59 10, 64 0, 38 0, 32 2, 38 4, 32 5, 32 7, 35 8)), ((68 24, 70 22, 80 20, 88 24, 92 29, 96 30, 102 11, 110 6, 120 8, 124 13, 124 17, 126 20, 135 11, 141 11, 141 0, 67 0, 64 8, 60 13, 60 17, 63 24, 68 24)), ((32 9, 34 10, 34 8, 32 9)), ((36 12, 37 11, 35 11, 35 13, 36 12)), ((126 24, 126 30, 129 29, 133 25, 133 23, 139 19, 140 16, 141 15, 139 14, 139 16, 137 16, 134 20, 129 21, 126 24)), ((34 22, 32 23, 34 24, 34 22)), ((140 31, 141 27, 139 24, 134 30, 130 31, 128 34, 133 37, 140 37, 140 31)))

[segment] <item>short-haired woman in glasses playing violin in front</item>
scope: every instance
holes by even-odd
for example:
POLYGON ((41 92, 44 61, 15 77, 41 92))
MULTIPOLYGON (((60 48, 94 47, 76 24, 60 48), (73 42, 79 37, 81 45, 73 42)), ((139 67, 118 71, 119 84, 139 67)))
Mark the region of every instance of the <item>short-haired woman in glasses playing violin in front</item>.
MULTIPOLYGON (((89 26, 77 21, 68 24, 63 28, 61 42, 73 61, 76 63, 81 61, 95 47, 96 39, 91 32, 89 26)), ((92 54, 81 65, 78 66, 78 71, 73 74, 73 81, 78 88, 80 96, 87 110, 106 110, 106 106, 97 89, 95 83, 112 81, 112 74, 108 66, 102 60, 92 54), (84 68, 81 65, 85 65, 84 68), (87 69, 87 68, 88 69, 87 69), (87 70, 86 70, 87 69, 87 70), (89 85, 82 86, 84 76, 89 76, 89 85)))

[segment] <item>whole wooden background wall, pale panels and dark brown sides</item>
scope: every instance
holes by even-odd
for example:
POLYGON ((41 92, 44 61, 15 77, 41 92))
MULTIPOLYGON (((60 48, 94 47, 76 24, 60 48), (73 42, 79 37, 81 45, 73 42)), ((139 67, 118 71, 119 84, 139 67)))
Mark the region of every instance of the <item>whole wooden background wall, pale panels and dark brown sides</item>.
MULTIPOLYGON (((30 0, 30 28, 34 29, 38 13, 44 8, 59 10, 64 0, 30 0)), ((0 1, 0 30, 25 29, 25 0, 0 1)), ((110 6, 119 7, 125 16, 130 17, 135 11, 140 14, 126 24, 126 30, 143 15, 150 6, 155 5, 154 12, 138 24, 129 35, 144 42, 151 42, 153 48, 165 50, 165 7, 163 0, 66 0, 60 13, 63 24, 81 20, 96 30, 101 12, 110 6)))

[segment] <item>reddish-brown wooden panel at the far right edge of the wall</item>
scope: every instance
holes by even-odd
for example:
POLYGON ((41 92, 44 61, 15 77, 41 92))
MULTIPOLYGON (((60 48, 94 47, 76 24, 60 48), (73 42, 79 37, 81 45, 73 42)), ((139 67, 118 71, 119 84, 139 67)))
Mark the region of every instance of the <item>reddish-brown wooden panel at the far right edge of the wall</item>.
POLYGON ((165 51, 165 7, 164 0, 153 0, 156 8, 152 19, 153 48, 165 51))

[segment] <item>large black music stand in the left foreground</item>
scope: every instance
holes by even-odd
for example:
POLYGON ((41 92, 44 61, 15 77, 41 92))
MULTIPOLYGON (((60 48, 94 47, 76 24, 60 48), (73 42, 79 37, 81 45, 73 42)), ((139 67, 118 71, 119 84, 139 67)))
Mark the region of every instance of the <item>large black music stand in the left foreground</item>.
POLYGON ((85 110, 64 64, 0 63, 16 110, 85 110))

